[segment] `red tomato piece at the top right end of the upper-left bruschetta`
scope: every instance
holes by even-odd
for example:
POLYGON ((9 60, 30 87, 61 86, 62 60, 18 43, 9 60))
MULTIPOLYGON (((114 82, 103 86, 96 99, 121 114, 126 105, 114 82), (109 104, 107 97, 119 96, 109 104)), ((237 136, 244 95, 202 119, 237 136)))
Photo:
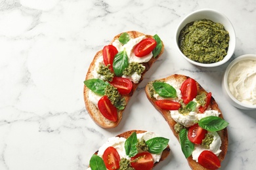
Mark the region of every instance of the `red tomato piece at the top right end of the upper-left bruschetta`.
POLYGON ((142 58, 150 54, 154 48, 156 48, 156 40, 152 38, 143 39, 135 46, 134 54, 135 56, 142 58))

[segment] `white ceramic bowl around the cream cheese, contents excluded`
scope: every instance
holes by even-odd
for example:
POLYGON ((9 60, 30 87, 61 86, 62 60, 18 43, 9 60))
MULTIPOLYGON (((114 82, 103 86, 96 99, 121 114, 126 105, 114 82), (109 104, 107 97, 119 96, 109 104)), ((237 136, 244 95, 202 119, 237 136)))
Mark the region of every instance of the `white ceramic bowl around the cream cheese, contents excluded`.
POLYGON ((228 65, 228 67, 226 67, 226 71, 224 73, 223 81, 222 81, 222 89, 223 89, 224 95, 226 96, 228 101, 232 105, 234 105, 234 107, 238 107, 239 109, 244 109, 244 110, 253 110, 253 109, 256 109, 256 105, 249 105, 249 104, 242 103, 241 101, 238 101, 238 99, 236 99, 236 97, 234 97, 234 95, 232 95, 232 93, 230 92, 230 89, 228 88, 228 75, 230 73, 230 69, 232 69, 232 67, 234 65, 236 65, 236 63, 238 63, 240 61, 248 60, 248 59, 256 61, 256 55, 254 55, 254 54, 245 54, 243 56, 240 56, 240 57, 234 59, 228 65))

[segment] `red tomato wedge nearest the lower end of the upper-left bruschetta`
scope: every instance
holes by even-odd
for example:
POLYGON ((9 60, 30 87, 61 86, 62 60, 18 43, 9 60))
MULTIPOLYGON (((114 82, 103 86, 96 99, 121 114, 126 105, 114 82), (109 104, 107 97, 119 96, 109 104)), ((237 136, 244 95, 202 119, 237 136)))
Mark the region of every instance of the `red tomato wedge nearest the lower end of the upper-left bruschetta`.
POLYGON ((98 101, 98 110, 100 110, 101 114, 108 120, 116 122, 117 109, 114 105, 112 105, 110 99, 108 99, 108 96, 104 95, 100 98, 98 101))

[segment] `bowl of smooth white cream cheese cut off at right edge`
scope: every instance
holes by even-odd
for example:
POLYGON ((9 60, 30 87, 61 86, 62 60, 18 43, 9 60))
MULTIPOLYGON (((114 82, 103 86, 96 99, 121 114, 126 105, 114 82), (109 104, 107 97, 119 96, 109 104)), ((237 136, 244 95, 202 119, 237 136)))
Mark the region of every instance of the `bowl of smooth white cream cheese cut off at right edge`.
POLYGON ((234 107, 256 109, 256 55, 245 54, 234 59, 226 68, 222 88, 234 107))

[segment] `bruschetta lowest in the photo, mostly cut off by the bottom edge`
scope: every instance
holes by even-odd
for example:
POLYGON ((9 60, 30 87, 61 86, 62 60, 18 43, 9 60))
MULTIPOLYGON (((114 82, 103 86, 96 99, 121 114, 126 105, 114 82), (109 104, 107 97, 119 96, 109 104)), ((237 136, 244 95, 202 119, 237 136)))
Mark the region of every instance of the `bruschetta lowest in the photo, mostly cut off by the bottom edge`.
POLYGON ((89 169, 153 169, 169 155, 169 139, 156 133, 131 130, 110 137, 89 162, 89 169))

